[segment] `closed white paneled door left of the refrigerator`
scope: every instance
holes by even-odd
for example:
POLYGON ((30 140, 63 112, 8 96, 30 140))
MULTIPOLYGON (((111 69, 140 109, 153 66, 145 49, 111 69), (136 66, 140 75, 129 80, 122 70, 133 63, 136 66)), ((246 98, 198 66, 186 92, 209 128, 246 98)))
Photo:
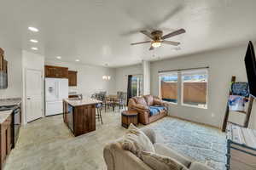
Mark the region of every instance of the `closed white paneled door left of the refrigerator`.
POLYGON ((43 116, 42 71, 26 69, 26 122, 43 116))

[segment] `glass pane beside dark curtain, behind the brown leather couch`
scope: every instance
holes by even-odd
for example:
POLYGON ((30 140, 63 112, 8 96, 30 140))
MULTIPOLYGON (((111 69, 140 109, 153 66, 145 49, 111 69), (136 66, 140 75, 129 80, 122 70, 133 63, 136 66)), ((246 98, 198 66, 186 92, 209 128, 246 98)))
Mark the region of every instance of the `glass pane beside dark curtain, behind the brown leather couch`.
POLYGON ((143 76, 137 75, 131 78, 131 96, 141 96, 143 94, 143 76))

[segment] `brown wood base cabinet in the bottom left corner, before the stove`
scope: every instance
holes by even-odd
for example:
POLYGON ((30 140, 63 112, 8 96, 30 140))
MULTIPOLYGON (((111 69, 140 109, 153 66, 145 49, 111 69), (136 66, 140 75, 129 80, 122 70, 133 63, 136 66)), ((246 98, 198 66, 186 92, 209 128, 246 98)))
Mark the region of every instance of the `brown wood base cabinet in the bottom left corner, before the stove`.
POLYGON ((11 116, 9 116, 5 122, 0 124, 0 161, 1 166, 0 170, 3 169, 3 164, 9 156, 10 150, 12 148, 12 142, 11 142, 11 116))

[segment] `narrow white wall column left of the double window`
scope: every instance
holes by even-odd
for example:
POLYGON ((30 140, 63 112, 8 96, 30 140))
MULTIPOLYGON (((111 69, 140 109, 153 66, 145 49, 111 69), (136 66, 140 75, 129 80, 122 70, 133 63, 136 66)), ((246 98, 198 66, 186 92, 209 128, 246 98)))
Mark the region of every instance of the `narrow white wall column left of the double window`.
POLYGON ((143 94, 150 94, 150 62, 143 60, 143 94))

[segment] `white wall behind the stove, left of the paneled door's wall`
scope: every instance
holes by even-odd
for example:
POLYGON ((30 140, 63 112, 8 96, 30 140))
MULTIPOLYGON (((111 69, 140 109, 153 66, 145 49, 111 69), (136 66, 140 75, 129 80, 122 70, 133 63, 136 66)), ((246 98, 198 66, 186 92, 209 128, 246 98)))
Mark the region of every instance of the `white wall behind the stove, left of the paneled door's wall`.
POLYGON ((22 95, 22 70, 21 70, 21 49, 15 48, 0 39, 0 47, 3 48, 4 59, 8 61, 8 88, 0 89, 0 99, 21 98, 22 95))

